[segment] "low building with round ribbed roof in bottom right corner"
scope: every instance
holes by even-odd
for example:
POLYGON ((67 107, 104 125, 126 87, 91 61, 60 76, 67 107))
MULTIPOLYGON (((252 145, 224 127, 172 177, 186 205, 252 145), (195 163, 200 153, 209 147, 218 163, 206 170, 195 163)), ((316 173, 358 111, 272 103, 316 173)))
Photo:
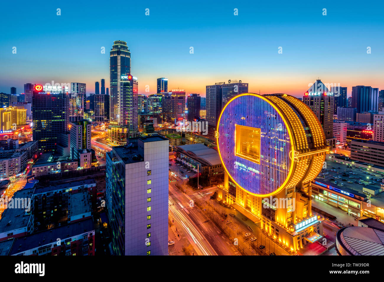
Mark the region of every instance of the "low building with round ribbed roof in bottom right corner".
POLYGON ((349 226, 336 234, 336 251, 340 256, 383 256, 384 230, 349 226))

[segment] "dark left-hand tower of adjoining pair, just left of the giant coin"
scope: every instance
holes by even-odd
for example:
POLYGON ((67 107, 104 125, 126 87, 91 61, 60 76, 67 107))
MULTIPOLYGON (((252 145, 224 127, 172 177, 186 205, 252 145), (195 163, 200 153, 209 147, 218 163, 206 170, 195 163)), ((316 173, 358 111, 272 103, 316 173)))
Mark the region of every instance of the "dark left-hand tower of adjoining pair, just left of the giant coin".
POLYGON ((215 140, 217 121, 222 110, 222 91, 225 82, 217 82, 205 87, 206 117, 208 124, 208 138, 215 140))

